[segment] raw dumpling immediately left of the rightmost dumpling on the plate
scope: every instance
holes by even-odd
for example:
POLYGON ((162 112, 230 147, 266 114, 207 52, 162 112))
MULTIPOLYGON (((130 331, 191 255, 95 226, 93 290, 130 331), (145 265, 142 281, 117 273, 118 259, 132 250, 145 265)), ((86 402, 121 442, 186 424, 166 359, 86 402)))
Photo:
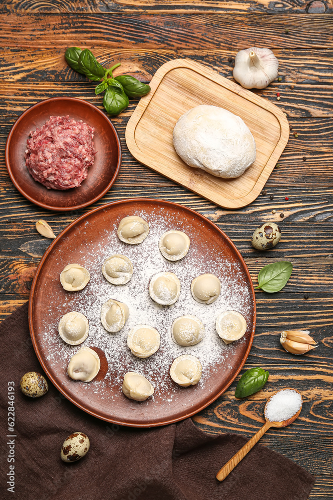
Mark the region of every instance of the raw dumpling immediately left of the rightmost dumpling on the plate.
POLYGON ((179 345, 195 345, 203 339, 205 327, 196 316, 186 314, 177 317, 171 326, 171 336, 179 345))

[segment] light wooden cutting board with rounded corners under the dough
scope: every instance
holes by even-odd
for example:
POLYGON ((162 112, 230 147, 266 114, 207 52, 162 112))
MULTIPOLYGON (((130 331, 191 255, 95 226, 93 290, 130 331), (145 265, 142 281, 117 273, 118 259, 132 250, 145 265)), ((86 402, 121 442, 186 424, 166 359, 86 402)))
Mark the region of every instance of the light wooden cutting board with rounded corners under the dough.
POLYGON ((241 208, 263 189, 286 147, 289 124, 274 104, 190 59, 163 64, 151 91, 141 98, 126 127, 132 155, 156 172, 224 208, 241 208), (172 131, 178 118, 199 104, 221 106, 245 121, 257 145, 256 161, 240 177, 222 179, 188 166, 176 153, 172 131))

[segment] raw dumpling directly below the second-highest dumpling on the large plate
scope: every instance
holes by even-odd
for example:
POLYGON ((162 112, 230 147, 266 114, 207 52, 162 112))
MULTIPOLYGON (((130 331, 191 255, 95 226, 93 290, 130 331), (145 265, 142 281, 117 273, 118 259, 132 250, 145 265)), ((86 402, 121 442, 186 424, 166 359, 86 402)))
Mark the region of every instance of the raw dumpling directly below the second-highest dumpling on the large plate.
POLYGON ((149 295, 155 302, 171 305, 178 300, 180 281, 174 272, 158 272, 149 283, 149 295))

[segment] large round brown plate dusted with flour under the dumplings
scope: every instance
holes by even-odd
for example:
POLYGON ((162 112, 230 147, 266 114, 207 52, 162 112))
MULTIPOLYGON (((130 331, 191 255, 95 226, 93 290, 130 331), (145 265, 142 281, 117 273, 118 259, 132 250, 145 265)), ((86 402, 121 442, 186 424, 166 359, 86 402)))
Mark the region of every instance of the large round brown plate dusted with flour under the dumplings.
POLYGON ((84 411, 121 425, 150 427, 176 422, 205 408, 224 392, 241 370, 252 345, 256 324, 254 289, 246 264, 232 241, 203 215, 176 203, 133 198, 95 208, 71 223, 51 243, 33 279, 29 300, 29 328, 34 349, 53 384, 84 411), (142 216, 150 226, 139 245, 121 242, 116 235, 119 221, 132 214, 142 216), (170 262, 162 257, 158 239, 167 230, 184 230, 191 240, 186 257, 170 262), (101 272, 103 261, 122 253, 134 266, 126 285, 111 285, 101 272), (84 290, 66 292, 59 281, 63 267, 77 262, 91 279, 84 290), (181 294, 171 307, 156 306, 148 293, 150 277, 171 270, 181 281, 181 294), (204 272, 219 276, 222 292, 210 305, 198 304, 191 295, 191 280, 204 272), (127 294, 127 298, 126 298, 127 294), (100 307, 109 298, 127 302, 130 314, 122 330, 110 334, 100 323, 100 307), (215 331, 221 310, 236 309, 247 320, 244 337, 226 346, 215 331), (59 337, 60 317, 70 310, 84 313, 89 336, 83 345, 94 348, 101 358, 101 370, 90 383, 74 381, 67 364, 79 346, 68 346, 59 337), (171 322, 182 314, 199 316, 206 326, 205 338, 193 347, 172 342, 171 322), (146 359, 133 356, 127 347, 131 326, 148 323, 161 335, 160 348, 146 359), (197 385, 180 387, 169 376, 173 359, 196 355, 203 365, 197 385), (145 375, 155 387, 146 401, 127 399, 122 379, 127 371, 145 375))

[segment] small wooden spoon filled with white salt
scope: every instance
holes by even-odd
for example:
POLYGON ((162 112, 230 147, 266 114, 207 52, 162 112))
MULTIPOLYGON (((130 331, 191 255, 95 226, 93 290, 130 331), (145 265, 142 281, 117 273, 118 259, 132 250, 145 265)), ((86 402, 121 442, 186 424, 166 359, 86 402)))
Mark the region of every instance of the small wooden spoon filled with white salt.
POLYGON ((256 444, 256 442, 259 441, 259 439, 265 434, 266 430, 268 430, 270 427, 287 427, 287 425, 289 425, 290 423, 293 423, 293 421, 296 420, 296 418, 301 413, 302 404, 303 404, 302 395, 301 395, 301 393, 297 389, 292 389, 291 387, 286 387, 284 389, 278 390, 277 392, 274 392, 274 394, 271 395, 271 397, 267 400, 267 402, 265 404, 265 410, 264 410, 264 415, 265 415, 265 419, 266 419, 265 425, 263 425, 262 428, 260 430, 258 430, 257 434, 255 434, 250 439, 250 441, 248 441, 246 444, 244 444, 243 448, 240 449, 236 453, 236 455, 234 455, 232 458, 230 458, 229 462, 227 462, 218 471, 218 473, 216 474, 216 478, 219 481, 223 481, 223 479, 225 479, 227 477, 227 475, 229 475, 230 472, 236 467, 236 465, 241 460, 243 460, 244 456, 248 454, 248 452, 250 451, 250 449, 253 448, 253 446, 256 444), (291 416, 290 418, 288 418, 287 420, 282 420, 280 422, 279 421, 273 421, 273 420, 271 421, 271 420, 268 419, 267 414, 266 414, 267 413, 268 404, 270 403, 270 401, 271 401, 271 399, 272 399, 273 396, 275 396, 276 394, 279 394, 280 392, 283 392, 284 390, 293 390, 293 391, 297 392, 298 394, 300 394, 300 396, 301 396, 301 406, 300 406, 299 410, 293 416, 291 416))

